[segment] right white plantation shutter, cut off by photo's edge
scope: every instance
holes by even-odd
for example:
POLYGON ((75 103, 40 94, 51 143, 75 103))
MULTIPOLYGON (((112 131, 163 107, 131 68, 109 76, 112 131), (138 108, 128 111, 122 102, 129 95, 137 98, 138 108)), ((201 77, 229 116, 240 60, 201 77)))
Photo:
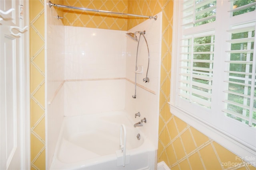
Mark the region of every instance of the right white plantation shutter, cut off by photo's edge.
MULTIPOLYGON (((255 0, 240 5, 234 1, 232 16, 238 16, 255 10, 255 0)), ((244 1, 245 2, 245 1, 244 1)), ((225 109, 231 117, 249 126, 256 126, 256 50, 255 21, 231 25, 228 30, 230 39, 226 73, 225 109)))

